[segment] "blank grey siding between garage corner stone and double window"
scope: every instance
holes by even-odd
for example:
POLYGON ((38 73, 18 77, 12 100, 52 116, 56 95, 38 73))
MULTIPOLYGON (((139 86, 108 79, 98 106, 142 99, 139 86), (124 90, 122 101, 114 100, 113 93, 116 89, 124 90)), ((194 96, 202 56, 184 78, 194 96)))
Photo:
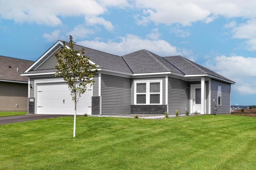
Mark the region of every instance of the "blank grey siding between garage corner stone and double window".
POLYGON ((102 115, 130 114, 130 78, 101 74, 102 115))

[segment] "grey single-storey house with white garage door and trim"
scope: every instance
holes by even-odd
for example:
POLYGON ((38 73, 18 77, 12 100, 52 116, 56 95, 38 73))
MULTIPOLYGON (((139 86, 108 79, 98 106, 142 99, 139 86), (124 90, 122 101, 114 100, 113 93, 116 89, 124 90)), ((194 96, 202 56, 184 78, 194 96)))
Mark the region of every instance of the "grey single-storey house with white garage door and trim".
MULTIPOLYGON (((74 103, 66 83, 54 77, 56 42, 22 76, 29 77, 29 113, 73 114, 74 103)), ((68 45, 68 43, 66 44, 68 45)), ((85 49, 90 63, 98 65, 92 88, 78 102, 77 113, 111 114, 201 114, 230 113, 230 86, 234 81, 182 56, 160 57, 140 50, 122 57, 85 49)), ((114 47, 113 47, 114 48, 114 47)))

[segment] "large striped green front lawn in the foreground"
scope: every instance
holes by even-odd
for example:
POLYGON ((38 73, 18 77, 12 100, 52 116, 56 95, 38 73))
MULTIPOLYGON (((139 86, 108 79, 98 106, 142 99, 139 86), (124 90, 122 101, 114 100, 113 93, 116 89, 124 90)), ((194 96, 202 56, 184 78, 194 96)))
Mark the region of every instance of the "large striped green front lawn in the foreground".
POLYGON ((0 125, 0 169, 256 169, 256 118, 72 117, 0 125))

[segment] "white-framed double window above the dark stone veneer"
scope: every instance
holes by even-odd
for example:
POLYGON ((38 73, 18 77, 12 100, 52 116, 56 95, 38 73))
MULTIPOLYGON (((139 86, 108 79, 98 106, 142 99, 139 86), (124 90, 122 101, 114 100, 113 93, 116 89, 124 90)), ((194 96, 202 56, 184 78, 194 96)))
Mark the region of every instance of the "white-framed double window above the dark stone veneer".
POLYGON ((162 80, 134 81, 135 105, 162 105, 162 80))

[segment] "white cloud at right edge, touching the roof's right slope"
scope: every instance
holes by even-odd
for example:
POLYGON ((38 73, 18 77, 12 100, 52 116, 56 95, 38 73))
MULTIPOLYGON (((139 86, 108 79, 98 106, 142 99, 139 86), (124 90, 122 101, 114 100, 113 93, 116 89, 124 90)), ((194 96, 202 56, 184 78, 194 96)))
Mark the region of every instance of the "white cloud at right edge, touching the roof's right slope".
POLYGON ((232 86, 234 90, 242 95, 256 94, 256 58, 222 55, 214 61, 214 64, 208 63, 206 67, 235 81, 236 85, 232 86))

